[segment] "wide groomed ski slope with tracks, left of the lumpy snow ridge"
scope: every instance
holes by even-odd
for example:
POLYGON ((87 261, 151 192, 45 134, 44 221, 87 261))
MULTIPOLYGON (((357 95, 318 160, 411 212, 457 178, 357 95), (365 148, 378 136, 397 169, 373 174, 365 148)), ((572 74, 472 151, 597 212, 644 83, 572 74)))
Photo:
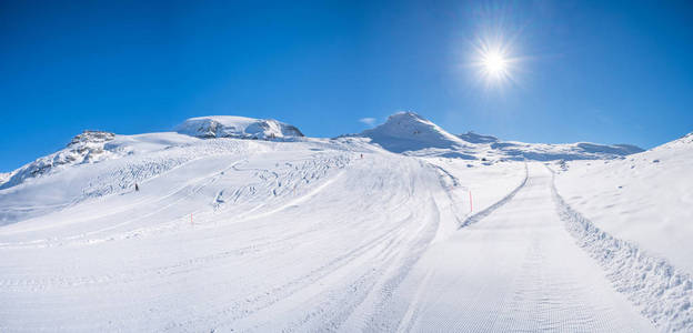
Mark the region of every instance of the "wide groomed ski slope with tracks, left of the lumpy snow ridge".
POLYGON ((617 291, 541 163, 217 140, 139 192, 0 228, 0 331, 691 327, 617 291))

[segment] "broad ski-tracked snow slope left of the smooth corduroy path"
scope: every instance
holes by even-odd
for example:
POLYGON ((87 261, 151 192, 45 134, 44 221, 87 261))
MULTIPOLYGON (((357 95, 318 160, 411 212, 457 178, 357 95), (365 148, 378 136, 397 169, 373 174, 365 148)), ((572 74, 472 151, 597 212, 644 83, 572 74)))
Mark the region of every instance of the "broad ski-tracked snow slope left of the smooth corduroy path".
MULTIPOLYGON (((426 161, 379 150, 361 159, 322 143, 251 144, 261 147, 187 161, 142 180, 140 192, 2 228, 0 329, 368 327, 439 225, 455 225, 426 161)), ((465 181, 496 189, 512 189, 523 173, 514 164, 458 167, 465 181)), ((127 174, 99 168, 102 183, 127 174)), ((479 205, 500 199, 491 196, 479 205)))

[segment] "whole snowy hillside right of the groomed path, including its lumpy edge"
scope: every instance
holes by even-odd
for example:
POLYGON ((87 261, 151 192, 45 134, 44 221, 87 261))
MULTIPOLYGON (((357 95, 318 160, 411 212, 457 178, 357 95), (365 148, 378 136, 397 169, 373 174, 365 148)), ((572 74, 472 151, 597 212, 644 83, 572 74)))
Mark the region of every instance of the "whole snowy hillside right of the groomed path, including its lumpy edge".
POLYGON ((693 330, 693 134, 625 160, 556 167, 583 246, 655 322, 693 330))

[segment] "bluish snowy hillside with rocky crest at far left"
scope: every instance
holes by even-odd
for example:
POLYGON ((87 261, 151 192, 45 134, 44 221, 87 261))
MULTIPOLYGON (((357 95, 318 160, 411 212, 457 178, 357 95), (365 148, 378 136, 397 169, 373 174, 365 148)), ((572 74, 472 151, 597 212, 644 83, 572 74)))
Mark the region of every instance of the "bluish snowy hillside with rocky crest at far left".
POLYGON ((183 162, 229 149, 172 132, 108 133, 108 138, 77 144, 73 140, 68 148, 13 171, 0 185, 0 225, 119 193, 183 162))

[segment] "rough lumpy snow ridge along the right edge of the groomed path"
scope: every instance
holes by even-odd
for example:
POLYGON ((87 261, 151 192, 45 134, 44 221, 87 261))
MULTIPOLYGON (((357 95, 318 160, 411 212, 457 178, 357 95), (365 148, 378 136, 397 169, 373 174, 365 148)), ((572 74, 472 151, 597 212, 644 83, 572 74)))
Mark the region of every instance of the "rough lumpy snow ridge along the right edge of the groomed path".
POLYGON ((559 194, 552 172, 554 202, 569 233, 606 271, 621 293, 666 332, 693 332, 693 279, 666 260, 600 230, 559 194))

